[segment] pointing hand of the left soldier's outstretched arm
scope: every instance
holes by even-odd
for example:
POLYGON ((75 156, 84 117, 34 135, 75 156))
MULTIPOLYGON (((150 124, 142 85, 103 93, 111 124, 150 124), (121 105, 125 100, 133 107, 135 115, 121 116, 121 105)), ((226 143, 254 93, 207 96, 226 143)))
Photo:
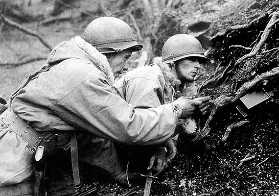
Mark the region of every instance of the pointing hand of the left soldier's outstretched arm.
POLYGON ((172 102, 174 110, 177 111, 180 119, 189 118, 202 104, 202 100, 189 99, 189 97, 180 97, 172 102))

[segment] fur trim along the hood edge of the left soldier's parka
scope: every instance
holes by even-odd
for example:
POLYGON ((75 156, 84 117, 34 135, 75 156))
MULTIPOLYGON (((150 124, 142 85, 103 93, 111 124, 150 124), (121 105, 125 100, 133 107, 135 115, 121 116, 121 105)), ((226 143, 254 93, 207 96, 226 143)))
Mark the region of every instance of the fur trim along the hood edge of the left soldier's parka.
POLYGON ((80 36, 76 36, 70 40, 73 44, 75 44, 79 49, 82 49, 84 52, 86 52, 90 60, 97 65, 97 68, 104 73, 107 76, 107 79, 109 80, 110 84, 114 84, 115 78, 112 71, 112 68, 108 62, 108 59, 105 55, 103 55, 101 52, 99 52, 95 47, 93 47, 91 44, 86 42, 84 39, 82 39, 80 36))

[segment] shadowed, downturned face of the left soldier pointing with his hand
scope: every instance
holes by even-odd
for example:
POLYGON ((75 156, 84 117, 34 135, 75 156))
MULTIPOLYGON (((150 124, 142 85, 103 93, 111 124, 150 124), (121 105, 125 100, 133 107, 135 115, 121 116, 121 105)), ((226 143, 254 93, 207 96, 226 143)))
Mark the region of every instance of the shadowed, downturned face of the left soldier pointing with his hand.
POLYGON ((131 54, 132 50, 123 50, 122 52, 107 56, 115 78, 124 70, 128 70, 127 60, 130 58, 131 54))

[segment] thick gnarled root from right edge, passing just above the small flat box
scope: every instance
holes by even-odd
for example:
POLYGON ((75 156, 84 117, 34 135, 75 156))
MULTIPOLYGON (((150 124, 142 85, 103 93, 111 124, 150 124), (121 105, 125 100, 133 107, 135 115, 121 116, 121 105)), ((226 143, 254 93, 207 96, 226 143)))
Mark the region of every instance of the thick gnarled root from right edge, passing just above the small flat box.
POLYGON ((266 81, 269 81, 271 79, 279 78, 279 68, 274 68, 273 70, 262 73, 258 76, 256 76, 253 80, 246 82, 243 84, 235 93, 234 98, 229 98, 226 96, 220 96, 216 98, 214 101, 213 109, 209 115, 209 118, 204 126, 204 128, 201 130, 199 134, 191 141, 193 144, 197 144, 202 138, 204 138, 206 135, 210 132, 209 123, 212 121, 214 115, 216 112, 218 112, 220 109, 227 107, 228 105, 234 103, 239 98, 244 96, 248 91, 255 89, 259 85, 262 85, 266 81))

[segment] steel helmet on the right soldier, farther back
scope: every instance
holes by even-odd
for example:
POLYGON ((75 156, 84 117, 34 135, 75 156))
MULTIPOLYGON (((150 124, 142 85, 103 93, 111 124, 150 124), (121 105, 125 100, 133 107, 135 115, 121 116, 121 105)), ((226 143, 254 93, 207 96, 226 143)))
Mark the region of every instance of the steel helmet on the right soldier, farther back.
POLYGON ((209 60, 204 55, 204 49, 198 39, 187 34, 176 34, 167 39, 162 49, 162 61, 172 63, 186 57, 199 57, 209 60))

